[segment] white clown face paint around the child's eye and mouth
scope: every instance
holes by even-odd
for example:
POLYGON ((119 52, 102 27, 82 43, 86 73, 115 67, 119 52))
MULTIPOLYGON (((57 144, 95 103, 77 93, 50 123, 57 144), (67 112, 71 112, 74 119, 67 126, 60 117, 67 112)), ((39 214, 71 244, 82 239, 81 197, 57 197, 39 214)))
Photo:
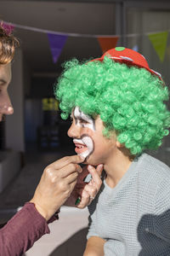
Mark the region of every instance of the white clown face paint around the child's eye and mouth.
MULTIPOLYGON (((82 113, 80 108, 76 107, 74 109, 74 118, 76 125, 80 127, 87 127, 92 131, 95 131, 94 119, 88 116, 85 113, 82 113)), ((80 139, 74 139, 73 143, 76 145, 76 152, 79 155, 82 155, 84 158, 87 158, 94 151, 94 141, 87 134, 83 134, 80 139)))

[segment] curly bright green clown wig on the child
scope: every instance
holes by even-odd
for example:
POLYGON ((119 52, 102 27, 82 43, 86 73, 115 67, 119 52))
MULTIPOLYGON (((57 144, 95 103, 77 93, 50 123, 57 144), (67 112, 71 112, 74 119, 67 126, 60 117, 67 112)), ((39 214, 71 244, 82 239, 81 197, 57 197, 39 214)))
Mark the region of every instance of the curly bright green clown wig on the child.
POLYGON ((167 86, 144 68, 127 67, 105 56, 104 61, 76 59, 65 62, 55 86, 61 117, 67 119, 78 106, 91 116, 99 114, 104 135, 117 139, 131 154, 156 149, 167 136, 170 112, 167 86))

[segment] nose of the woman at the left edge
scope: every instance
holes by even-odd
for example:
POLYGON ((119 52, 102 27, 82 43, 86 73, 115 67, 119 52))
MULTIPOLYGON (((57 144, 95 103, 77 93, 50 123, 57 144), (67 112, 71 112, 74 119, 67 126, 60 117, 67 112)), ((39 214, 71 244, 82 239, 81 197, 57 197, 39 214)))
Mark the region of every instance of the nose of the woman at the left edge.
POLYGON ((1 96, 1 99, 0 99, 0 113, 3 113, 3 114, 12 114, 12 113, 14 113, 14 108, 11 104, 8 93, 1 96))

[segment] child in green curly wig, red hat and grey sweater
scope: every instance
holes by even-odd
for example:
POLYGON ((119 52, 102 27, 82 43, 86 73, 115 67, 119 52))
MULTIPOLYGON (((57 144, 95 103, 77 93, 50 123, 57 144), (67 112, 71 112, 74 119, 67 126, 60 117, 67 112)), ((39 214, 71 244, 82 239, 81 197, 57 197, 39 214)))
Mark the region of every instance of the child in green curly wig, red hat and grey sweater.
POLYGON ((68 136, 88 166, 104 166, 88 207, 84 256, 170 255, 170 168, 146 149, 168 135, 167 86, 143 55, 117 47, 65 63, 56 89, 68 136))

